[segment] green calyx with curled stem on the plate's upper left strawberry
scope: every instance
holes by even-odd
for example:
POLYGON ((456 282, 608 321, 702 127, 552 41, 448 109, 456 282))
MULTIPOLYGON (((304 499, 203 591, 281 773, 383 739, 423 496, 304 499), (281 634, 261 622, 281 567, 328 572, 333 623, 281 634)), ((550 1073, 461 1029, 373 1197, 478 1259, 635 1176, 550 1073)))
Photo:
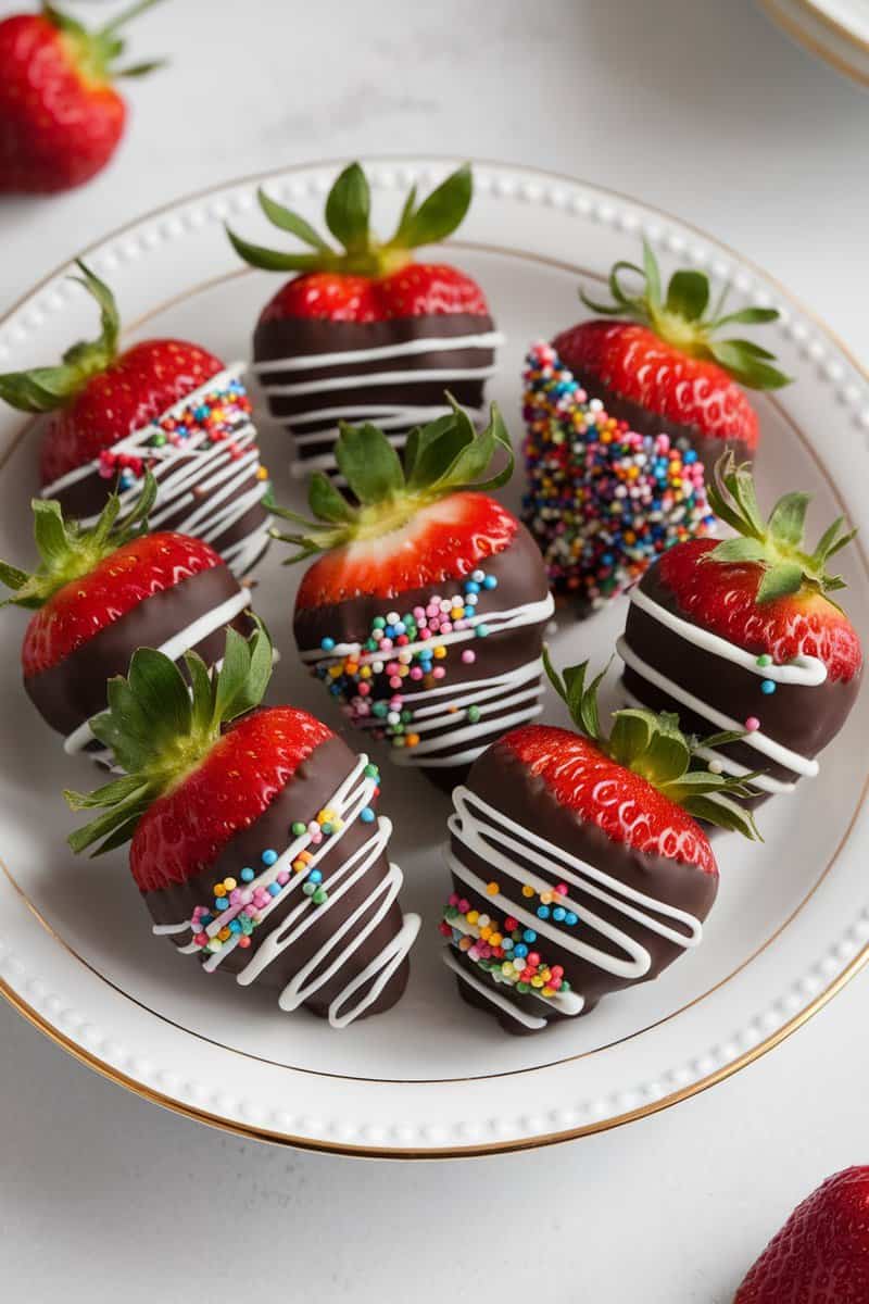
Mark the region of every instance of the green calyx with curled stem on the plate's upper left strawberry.
POLYGON ((83 286, 99 305, 99 336, 73 344, 59 366, 34 366, 29 372, 0 376, 0 399, 20 412, 52 412, 65 407, 93 376, 104 372, 117 356, 121 319, 115 296, 83 262, 77 261, 76 266, 82 275, 68 279, 83 286))

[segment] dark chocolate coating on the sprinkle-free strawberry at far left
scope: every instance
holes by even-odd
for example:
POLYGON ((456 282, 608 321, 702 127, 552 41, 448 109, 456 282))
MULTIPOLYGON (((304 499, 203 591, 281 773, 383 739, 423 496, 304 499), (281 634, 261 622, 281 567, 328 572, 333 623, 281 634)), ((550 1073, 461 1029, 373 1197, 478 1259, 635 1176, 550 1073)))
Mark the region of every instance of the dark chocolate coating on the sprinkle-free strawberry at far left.
MULTIPOLYGON (((173 588, 146 597, 57 665, 25 677, 27 695, 52 729, 70 734, 106 709, 106 681, 126 674, 137 648, 159 647, 238 591, 238 580, 227 566, 190 575, 173 588)), ((242 634, 250 627, 245 612, 229 623, 242 634)), ((220 660, 225 639, 225 626, 220 626, 195 645, 206 665, 220 660)))

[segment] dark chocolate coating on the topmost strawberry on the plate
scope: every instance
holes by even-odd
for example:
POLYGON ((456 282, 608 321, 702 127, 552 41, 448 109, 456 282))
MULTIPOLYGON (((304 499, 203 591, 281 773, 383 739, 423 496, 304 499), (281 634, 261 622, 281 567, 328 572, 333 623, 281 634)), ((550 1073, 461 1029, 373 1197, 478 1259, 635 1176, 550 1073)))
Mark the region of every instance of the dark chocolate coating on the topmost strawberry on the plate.
MULTIPOLYGON (((315 353, 348 353, 340 366, 318 366, 300 370, 268 372, 259 382, 268 398, 271 415, 293 433, 293 419, 323 407, 371 407, 374 404, 443 407, 444 390, 464 407, 478 408, 483 402, 485 381, 455 379, 420 382, 391 382, 387 385, 354 386, 345 390, 324 390, 318 394, 278 395, 275 385, 293 385, 306 381, 328 379, 339 376, 361 378, 375 372, 465 370, 491 366, 495 360, 490 348, 455 348, 423 353, 404 353, 396 357, 366 359, 353 363, 353 352, 363 348, 382 348, 406 340, 460 335, 483 335, 492 330, 491 317, 473 313, 430 313, 423 317, 393 317, 380 322, 336 322, 326 318, 283 317, 261 321, 254 333, 254 361, 267 363, 284 357, 305 357, 315 353)), ((345 417, 353 424, 352 417, 345 417)), ((371 420, 360 416, 360 421, 371 420)), ((377 425, 377 420, 374 421, 377 425)), ((336 420, 310 421, 298 425, 298 433, 335 430, 336 420)), ((390 436, 406 434, 409 426, 390 429, 390 436)), ((330 452, 335 446, 332 436, 313 441, 297 449, 301 462, 330 452)))

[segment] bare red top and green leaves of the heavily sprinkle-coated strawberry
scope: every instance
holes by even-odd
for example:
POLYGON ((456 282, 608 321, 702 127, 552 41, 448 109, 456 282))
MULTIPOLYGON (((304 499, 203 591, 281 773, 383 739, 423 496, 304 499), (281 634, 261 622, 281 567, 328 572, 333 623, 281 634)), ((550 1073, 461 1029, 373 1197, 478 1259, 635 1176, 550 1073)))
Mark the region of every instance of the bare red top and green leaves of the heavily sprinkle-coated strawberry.
POLYGON ((676 271, 662 297, 658 262, 648 244, 644 266, 618 262, 610 275, 612 304, 582 295, 595 313, 616 321, 590 321, 552 342, 590 398, 640 434, 666 433, 693 446, 707 471, 724 449, 748 456, 757 446, 757 413, 741 385, 770 390, 787 383, 771 365, 773 353, 747 339, 717 339, 722 326, 771 322, 773 308, 745 308, 722 316, 723 300, 709 309, 709 279, 676 271), (621 283, 625 271, 645 282, 638 295, 621 283))

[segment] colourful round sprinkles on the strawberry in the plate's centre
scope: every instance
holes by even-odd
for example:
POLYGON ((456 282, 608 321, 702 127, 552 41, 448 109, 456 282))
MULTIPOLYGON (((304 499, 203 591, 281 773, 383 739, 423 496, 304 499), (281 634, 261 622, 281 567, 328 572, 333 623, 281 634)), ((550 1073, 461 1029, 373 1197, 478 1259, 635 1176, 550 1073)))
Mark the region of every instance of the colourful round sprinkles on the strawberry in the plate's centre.
MULTIPOLYGON (((370 726, 374 738, 386 738, 393 747, 417 747, 413 696, 443 683, 451 656, 460 668, 474 664, 477 653, 466 644, 490 634, 477 605, 482 593, 496 588, 496 576, 478 569, 456 580, 446 597, 433 593, 412 612, 375 615, 361 643, 339 647, 336 639, 323 638, 314 673, 340 699, 345 715, 370 726)), ((463 703, 453 715, 477 724, 481 711, 463 703)))

